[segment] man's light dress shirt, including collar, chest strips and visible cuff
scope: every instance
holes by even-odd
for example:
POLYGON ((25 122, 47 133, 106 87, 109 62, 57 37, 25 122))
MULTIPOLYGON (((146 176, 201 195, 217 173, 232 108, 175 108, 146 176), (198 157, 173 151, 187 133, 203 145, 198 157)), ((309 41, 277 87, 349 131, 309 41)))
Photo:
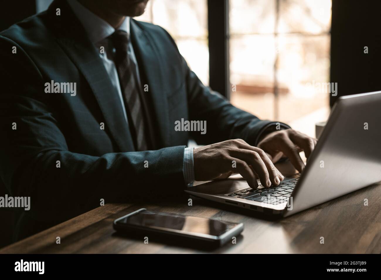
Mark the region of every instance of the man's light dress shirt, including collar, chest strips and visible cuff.
MULTIPOLYGON (((122 90, 120 89, 118 72, 113 60, 115 48, 112 45, 111 40, 107 38, 115 32, 114 27, 112 27, 108 22, 104 21, 103 19, 99 18, 99 16, 88 10, 77 0, 67 0, 67 2, 72 8, 75 16, 77 16, 79 21, 82 23, 82 26, 84 27, 88 37, 90 38, 90 41, 96 47, 99 48, 99 57, 101 58, 104 67, 106 68, 107 74, 109 74, 112 85, 118 91, 120 103, 123 107, 123 114, 128 124, 126 108, 123 102, 122 90), (101 47, 104 47, 104 53, 101 53, 101 47)), ((128 34, 128 36, 130 36, 130 17, 125 18, 118 30, 123 30, 128 34)), ((130 58, 136 65, 138 86, 141 87, 138 62, 136 61, 136 56, 131 41, 128 44, 128 54, 130 55, 130 58)), ((184 174, 185 183, 188 186, 191 186, 194 182, 193 148, 185 148, 184 150, 184 164, 182 171, 184 174)))

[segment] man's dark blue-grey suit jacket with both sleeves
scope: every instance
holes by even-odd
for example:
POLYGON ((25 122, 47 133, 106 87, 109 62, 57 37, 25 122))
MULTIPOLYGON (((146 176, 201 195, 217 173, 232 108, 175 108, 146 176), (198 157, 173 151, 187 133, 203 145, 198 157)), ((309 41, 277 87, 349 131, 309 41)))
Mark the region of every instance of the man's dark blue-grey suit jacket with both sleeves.
POLYGON ((149 86, 157 150, 134 151, 99 50, 65 1, 0 33, 0 174, 11 195, 31 197, 27 214, 34 220, 64 221, 102 198, 109 203, 156 190, 182 192, 189 138, 199 144, 242 138, 256 145, 273 124, 204 86, 161 27, 131 19, 131 41, 142 84, 149 86), (76 96, 45 93, 51 80, 77 83, 76 96), (207 133, 175 131, 181 118, 206 120, 207 133))

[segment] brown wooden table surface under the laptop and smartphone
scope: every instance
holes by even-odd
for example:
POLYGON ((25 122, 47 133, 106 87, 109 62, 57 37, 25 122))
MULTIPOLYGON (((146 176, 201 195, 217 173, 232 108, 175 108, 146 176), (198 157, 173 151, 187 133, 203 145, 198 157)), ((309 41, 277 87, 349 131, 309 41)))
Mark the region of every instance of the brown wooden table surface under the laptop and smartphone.
MULTIPOLYGON (((115 234, 115 218, 139 208, 243 222, 237 244, 214 253, 380 253, 381 184, 376 184, 288 218, 253 217, 201 199, 166 205, 106 204, 69 221, 9 245, 0 253, 199 253, 173 245, 134 240, 115 234), (368 206, 363 200, 368 198, 368 206), (61 244, 56 244, 56 237, 61 244), (324 244, 320 244, 324 237, 324 244)), ((229 207, 229 206, 228 206, 229 207)), ((208 252, 208 251, 207 251, 208 252)))

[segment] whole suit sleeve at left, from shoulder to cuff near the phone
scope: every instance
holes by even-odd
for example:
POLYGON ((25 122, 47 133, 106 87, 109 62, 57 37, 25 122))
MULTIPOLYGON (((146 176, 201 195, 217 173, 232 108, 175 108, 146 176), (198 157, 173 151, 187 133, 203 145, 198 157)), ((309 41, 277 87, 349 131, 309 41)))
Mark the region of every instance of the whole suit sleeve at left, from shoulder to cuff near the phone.
POLYGON ((182 192, 185 146, 100 157, 70 152, 27 53, 0 36, 0 61, 0 176, 12 196, 30 197, 35 219, 69 219, 98 207, 101 199, 128 202, 157 190, 182 192))

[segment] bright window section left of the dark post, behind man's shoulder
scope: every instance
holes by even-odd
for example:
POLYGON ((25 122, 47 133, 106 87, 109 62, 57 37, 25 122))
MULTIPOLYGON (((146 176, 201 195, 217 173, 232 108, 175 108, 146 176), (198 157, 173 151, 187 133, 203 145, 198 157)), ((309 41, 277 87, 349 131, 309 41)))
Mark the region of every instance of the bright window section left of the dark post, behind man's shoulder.
POLYGON ((207 0, 150 0, 146 12, 134 19, 166 29, 189 67, 209 84, 207 0))

